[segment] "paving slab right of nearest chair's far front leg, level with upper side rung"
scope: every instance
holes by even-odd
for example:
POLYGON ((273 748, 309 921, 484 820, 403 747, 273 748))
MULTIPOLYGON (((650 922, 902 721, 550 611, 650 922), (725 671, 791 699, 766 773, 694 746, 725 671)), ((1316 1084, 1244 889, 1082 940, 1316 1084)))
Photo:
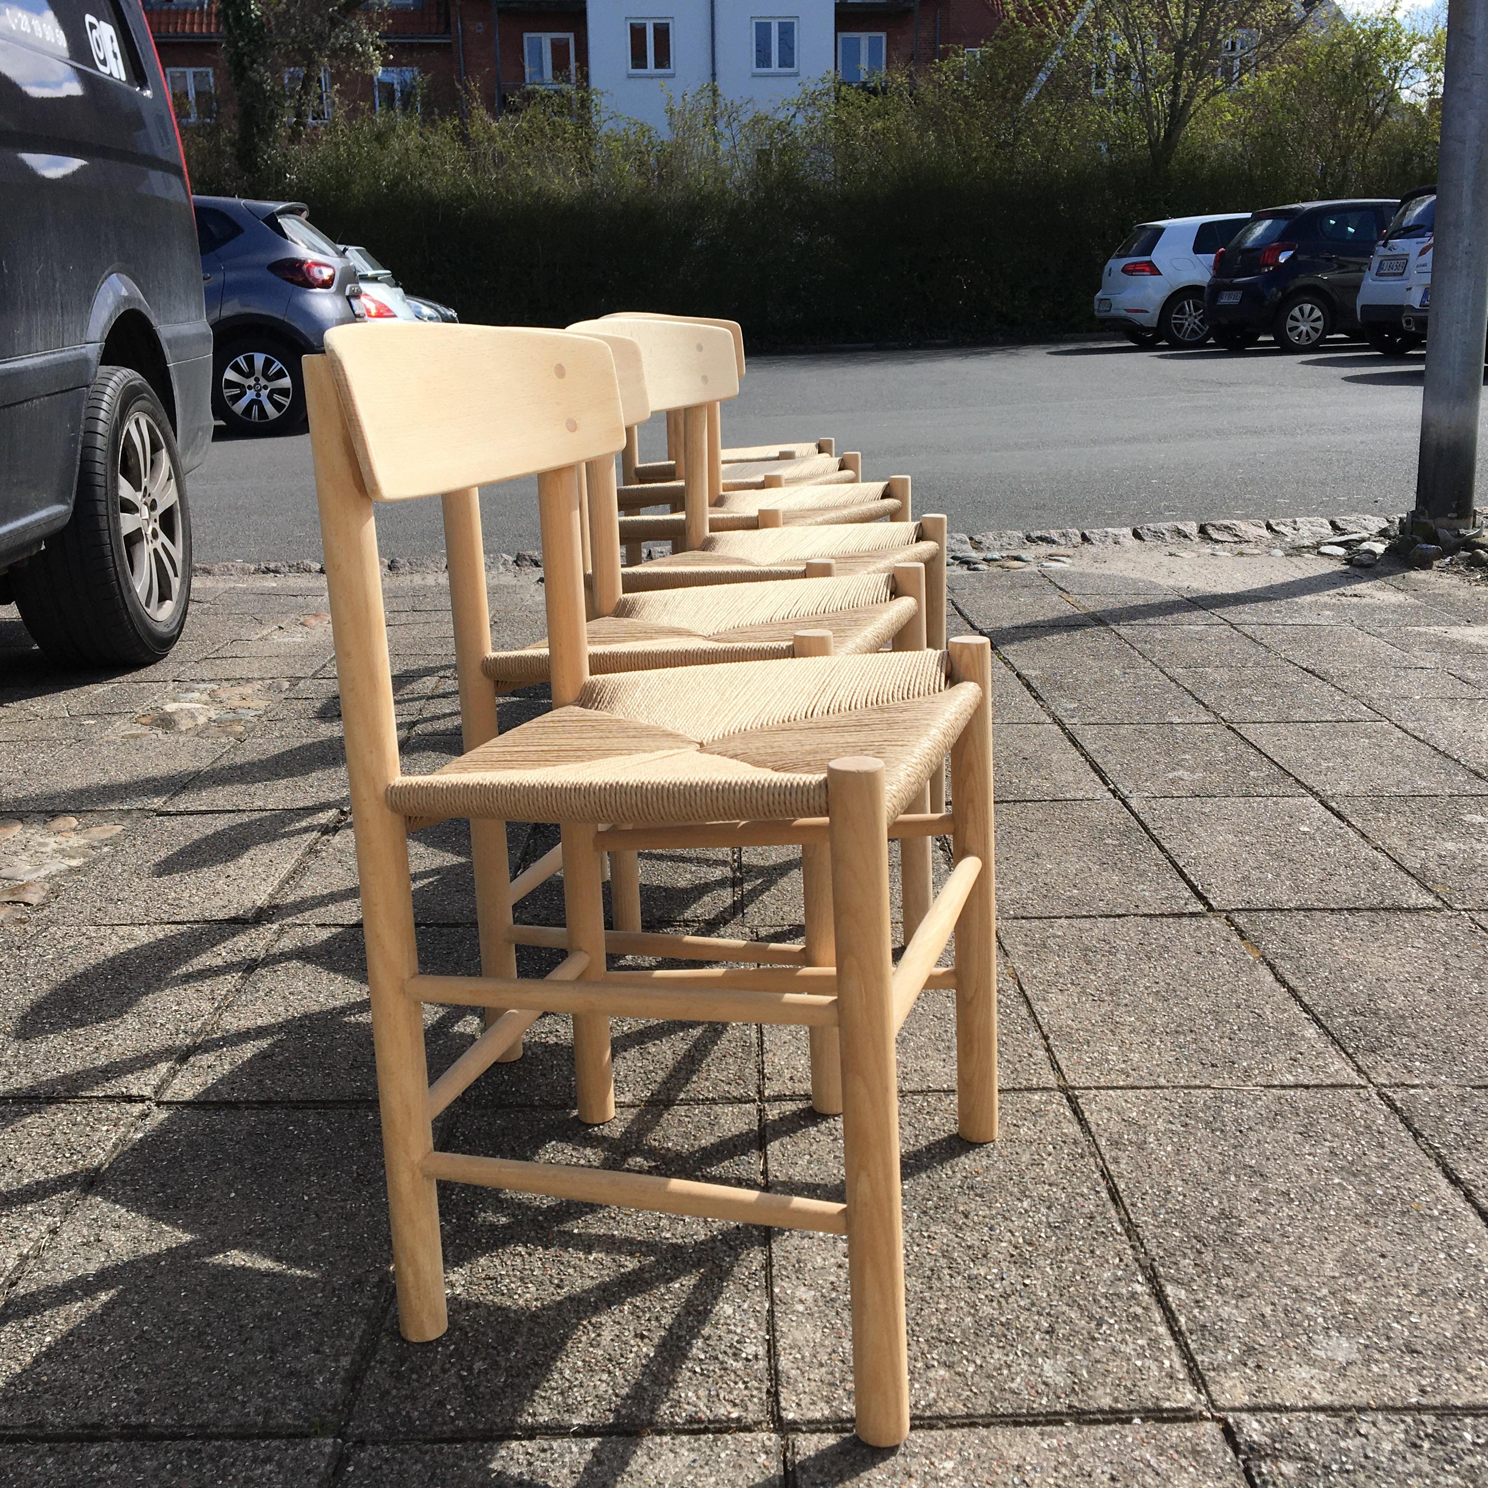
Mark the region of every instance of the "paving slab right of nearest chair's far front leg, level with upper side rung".
POLYGON ((1117 802, 1013 801, 998 808, 997 909, 1003 918, 1198 908, 1173 865, 1117 802))

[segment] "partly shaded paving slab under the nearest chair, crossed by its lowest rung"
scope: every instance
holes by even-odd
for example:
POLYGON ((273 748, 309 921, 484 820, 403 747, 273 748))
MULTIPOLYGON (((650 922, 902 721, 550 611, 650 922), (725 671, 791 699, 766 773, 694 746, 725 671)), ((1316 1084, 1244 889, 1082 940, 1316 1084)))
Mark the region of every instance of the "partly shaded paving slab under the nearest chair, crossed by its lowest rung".
MULTIPOLYGON (((641 1107, 604 1126, 558 1112, 473 1113, 449 1144, 760 1181, 753 1104, 641 1107)), ((449 1332, 415 1345, 387 1321, 354 1434, 766 1424, 759 1229, 454 1184, 440 1198, 449 1332)))

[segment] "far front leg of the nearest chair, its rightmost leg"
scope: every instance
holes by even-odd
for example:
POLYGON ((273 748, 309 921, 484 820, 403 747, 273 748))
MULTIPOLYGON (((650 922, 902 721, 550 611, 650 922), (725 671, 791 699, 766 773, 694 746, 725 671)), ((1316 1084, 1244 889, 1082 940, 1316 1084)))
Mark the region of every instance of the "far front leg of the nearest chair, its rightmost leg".
POLYGON ((997 1140, 997 879, 992 824, 992 650, 981 635, 949 646, 951 676, 975 682, 982 701, 951 748, 957 860, 982 872, 955 921, 957 1129, 967 1141, 997 1140))

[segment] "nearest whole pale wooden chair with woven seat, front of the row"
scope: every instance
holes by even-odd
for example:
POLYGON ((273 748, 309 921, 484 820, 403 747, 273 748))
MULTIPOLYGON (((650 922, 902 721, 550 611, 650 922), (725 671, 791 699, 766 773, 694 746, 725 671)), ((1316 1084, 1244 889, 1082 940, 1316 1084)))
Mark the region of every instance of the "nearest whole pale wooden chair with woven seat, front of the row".
POLYGON ((403 1336, 432 1339, 446 1327, 439 1181, 842 1234, 859 1434, 896 1445, 908 1434, 909 1405, 894 1036, 927 985, 957 994, 958 1129, 970 1141, 997 1135, 988 643, 591 677, 579 467, 623 442, 609 347, 484 326, 345 326, 327 333, 324 356, 305 359, 305 381, 403 1336), (458 537, 479 485, 531 473, 554 711, 432 775, 403 775, 373 503, 442 494, 458 537), (946 751, 951 814, 903 815, 946 751), (567 957, 548 978, 420 973, 408 833, 451 817, 562 824, 567 923, 558 937, 567 957), (634 826, 601 830, 606 821, 634 826), (940 832, 951 832, 957 865, 894 966, 888 839, 940 832), (606 931, 606 848, 714 842, 815 850, 827 865, 820 876, 832 894, 835 948, 606 931), (937 967, 952 933, 955 966, 937 967), (607 955, 631 952, 737 964, 609 969, 607 955), (430 1083, 426 1003, 506 1010, 430 1083), (839 1037, 845 1202, 436 1152, 433 1117, 543 1012, 573 1016, 586 1122, 615 1112, 612 1016, 804 1024, 839 1037))

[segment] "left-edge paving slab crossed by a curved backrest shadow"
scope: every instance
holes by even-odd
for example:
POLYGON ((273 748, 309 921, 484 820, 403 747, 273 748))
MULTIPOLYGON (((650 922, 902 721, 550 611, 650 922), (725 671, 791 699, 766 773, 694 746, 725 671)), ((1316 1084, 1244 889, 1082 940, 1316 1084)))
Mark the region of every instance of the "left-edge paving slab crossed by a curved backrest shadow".
POLYGON ((228 924, 0 926, 0 1092, 150 1095, 268 943, 228 924))

